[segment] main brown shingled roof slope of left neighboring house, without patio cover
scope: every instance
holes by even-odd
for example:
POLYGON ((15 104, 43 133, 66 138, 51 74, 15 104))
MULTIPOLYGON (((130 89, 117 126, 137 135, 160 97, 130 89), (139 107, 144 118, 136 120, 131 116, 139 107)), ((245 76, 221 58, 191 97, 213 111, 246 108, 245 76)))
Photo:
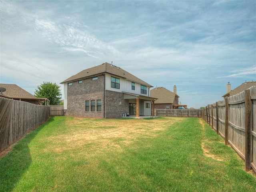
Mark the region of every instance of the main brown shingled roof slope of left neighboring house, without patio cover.
POLYGON ((16 84, 2 84, 1 83, 0 87, 6 88, 6 91, 3 92, 3 95, 10 97, 10 98, 36 98, 34 95, 32 95, 29 92, 27 92, 26 90, 20 88, 16 84))

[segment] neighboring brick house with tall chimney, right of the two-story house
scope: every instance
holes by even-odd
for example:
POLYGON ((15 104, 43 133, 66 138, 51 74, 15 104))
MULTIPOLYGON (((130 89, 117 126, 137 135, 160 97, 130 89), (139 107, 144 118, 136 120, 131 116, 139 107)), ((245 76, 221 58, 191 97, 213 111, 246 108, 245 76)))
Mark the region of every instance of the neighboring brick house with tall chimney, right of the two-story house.
POLYGON ((177 88, 174 85, 174 92, 169 91, 164 87, 156 87, 150 90, 150 96, 158 98, 154 102, 155 109, 174 109, 174 106, 179 104, 179 96, 177 95, 177 88))

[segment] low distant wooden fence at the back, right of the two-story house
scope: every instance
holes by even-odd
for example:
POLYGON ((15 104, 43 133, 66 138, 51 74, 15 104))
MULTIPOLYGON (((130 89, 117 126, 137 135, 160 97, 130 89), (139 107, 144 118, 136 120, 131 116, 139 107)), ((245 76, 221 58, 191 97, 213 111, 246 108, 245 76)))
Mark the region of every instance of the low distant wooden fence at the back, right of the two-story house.
POLYGON ((200 109, 155 109, 155 116, 166 117, 201 117, 200 109))

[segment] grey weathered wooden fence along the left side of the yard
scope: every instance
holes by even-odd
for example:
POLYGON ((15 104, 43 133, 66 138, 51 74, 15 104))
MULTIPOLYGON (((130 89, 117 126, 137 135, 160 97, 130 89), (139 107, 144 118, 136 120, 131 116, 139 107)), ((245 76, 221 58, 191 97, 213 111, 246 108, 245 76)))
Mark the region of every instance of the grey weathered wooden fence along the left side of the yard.
POLYGON ((50 107, 0 97, 0 152, 48 120, 50 107))

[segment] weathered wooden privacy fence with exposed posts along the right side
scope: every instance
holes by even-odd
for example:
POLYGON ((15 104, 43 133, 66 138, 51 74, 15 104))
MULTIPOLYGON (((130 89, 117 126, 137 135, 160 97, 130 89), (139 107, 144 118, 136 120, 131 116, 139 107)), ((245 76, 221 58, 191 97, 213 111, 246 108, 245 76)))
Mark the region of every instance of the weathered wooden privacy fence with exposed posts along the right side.
POLYGON ((206 106, 202 118, 256 172, 256 86, 206 106))

